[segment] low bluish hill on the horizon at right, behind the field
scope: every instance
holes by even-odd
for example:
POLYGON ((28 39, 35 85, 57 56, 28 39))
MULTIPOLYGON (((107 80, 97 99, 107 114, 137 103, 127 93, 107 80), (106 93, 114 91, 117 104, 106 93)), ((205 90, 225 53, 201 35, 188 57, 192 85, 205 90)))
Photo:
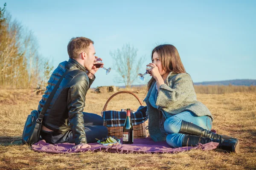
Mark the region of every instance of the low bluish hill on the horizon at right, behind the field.
POLYGON ((214 82, 194 82, 194 85, 256 85, 256 80, 253 79, 235 79, 214 82))

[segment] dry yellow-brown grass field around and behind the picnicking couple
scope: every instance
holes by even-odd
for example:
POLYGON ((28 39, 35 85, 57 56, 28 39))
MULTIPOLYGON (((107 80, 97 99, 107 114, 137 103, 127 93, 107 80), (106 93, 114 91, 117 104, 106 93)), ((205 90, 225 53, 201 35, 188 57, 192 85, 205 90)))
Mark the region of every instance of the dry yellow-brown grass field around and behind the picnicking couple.
MULTIPOLYGON (((130 89, 141 100, 145 89, 130 89)), ((223 150, 190 150, 175 154, 37 153, 20 144, 26 116, 38 106, 41 96, 25 89, 0 90, 0 169, 256 169, 256 93, 197 94, 215 117, 213 128, 240 140, 240 153, 223 150)), ((87 93, 84 111, 100 114, 113 93, 87 93)), ((145 103, 144 103, 145 105, 145 103)), ((108 110, 137 109, 130 94, 115 96, 108 110)))

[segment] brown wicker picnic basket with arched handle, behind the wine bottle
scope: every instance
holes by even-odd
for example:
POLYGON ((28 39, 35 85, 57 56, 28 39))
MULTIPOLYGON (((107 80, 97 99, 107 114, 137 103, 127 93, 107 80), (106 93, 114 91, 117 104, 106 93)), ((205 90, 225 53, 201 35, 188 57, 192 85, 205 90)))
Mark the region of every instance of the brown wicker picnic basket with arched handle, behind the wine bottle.
MULTIPOLYGON (((108 102, 117 94, 131 94, 134 97, 136 97, 136 99, 140 102, 140 105, 142 105, 142 102, 140 101, 140 99, 138 98, 138 96, 130 91, 119 91, 115 94, 113 94, 108 101, 106 102, 106 104, 104 105, 104 108, 102 110, 102 115, 103 112, 106 111, 107 106, 108 106, 108 102)), ((104 121, 103 125, 107 127, 107 122, 104 121)), ((134 138, 146 138, 147 137, 147 132, 146 132, 146 124, 145 122, 141 123, 140 125, 134 125, 134 138)), ((108 128, 108 135, 109 136, 116 136, 117 138, 122 138, 122 133, 123 133, 123 126, 116 126, 116 127, 107 127, 108 128)))

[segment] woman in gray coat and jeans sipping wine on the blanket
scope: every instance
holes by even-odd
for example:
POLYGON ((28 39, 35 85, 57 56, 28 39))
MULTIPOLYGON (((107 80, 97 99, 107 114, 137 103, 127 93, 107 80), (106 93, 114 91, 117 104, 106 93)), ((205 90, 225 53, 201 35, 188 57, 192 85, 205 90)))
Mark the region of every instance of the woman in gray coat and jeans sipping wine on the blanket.
POLYGON ((148 94, 148 131, 151 138, 171 147, 196 146, 198 143, 218 142, 219 148, 239 152, 239 141, 212 133, 212 114, 196 99, 189 74, 175 46, 155 47, 151 54, 148 94))

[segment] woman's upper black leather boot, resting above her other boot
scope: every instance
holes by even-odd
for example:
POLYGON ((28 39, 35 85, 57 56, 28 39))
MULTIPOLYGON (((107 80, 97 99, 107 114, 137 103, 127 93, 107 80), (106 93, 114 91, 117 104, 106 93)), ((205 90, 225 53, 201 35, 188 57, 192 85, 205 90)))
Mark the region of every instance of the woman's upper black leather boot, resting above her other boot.
POLYGON ((193 123, 190 122, 186 122, 184 120, 182 120, 181 122, 181 127, 180 127, 180 132, 179 133, 183 133, 183 134, 189 134, 189 135, 198 135, 198 136, 204 136, 207 138, 211 138, 211 139, 224 139, 224 140, 229 140, 229 139, 233 139, 236 140, 238 142, 238 139, 236 138, 232 138, 230 136, 226 136, 226 135, 219 135, 217 133, 213 133, 209 130, 206 130, 198 125, 195 125, 193 123))

